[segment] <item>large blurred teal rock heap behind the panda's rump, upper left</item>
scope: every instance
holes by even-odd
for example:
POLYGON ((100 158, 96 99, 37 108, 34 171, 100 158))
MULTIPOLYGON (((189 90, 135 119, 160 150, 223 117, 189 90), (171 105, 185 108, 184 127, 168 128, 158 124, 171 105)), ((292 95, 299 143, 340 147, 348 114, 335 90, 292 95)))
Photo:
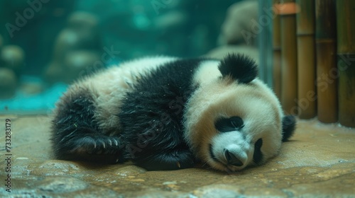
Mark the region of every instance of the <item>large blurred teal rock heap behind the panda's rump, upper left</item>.
MULTIPOLYGON (((55 40, 53 59, 44 71, 46 81, 72 83, 76 78, 97 69, 93 68, 94 63, 101 60, 99 54, 102 52, 97 25, 97 17, 92 13, 72 13, 67 28, 60 31, 55 40)), ((100 67, 102 65, 99 64, 100 67)))

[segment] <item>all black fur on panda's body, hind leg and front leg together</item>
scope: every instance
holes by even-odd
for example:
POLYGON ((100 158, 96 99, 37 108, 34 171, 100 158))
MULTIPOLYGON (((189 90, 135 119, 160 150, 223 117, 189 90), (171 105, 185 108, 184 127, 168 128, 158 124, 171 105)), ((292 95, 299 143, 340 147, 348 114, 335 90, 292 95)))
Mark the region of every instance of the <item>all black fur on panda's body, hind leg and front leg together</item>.
POLYGON ((195 91, 192 77, 202 60, 178 60, 141 76, 117 110, 122 130, 118 136, 100 132, 89 91, 64 95, 53 120, 56 158, 102 163, 130 159, 147 170, 194 165, 195 157, 183 140, 182 115, 187 98, 195 91))

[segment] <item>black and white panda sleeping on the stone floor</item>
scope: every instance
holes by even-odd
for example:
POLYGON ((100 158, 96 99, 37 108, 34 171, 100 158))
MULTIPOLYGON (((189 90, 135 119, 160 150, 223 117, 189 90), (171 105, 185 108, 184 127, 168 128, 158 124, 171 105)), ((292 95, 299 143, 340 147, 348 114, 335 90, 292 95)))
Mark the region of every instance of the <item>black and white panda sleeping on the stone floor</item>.
POLYGON ((83 78, 57 103, 55 157, 147 170, 261 165, 292 136, 295 118, 257 70, 243 54, 146 57, 83 78))

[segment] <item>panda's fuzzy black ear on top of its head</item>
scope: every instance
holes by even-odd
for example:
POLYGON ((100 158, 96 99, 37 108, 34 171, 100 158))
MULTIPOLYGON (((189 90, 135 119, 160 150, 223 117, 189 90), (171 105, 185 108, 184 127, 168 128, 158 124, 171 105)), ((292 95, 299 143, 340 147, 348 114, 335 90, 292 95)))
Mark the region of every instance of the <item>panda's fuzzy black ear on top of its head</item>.
POLYGON ((218 67, 223 77, 231 76, 239 83, 249 83, 258 76, 256 62, 244 54, 228 54, 218 67))

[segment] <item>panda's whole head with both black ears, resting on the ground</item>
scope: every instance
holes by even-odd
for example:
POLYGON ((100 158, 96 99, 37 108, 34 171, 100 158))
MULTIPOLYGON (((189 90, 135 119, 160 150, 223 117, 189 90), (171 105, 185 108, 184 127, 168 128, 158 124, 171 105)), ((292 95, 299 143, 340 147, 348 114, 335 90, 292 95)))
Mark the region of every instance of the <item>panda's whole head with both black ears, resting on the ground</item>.
POLYGON ((187 144, 217 170, 265 163, 293 134, 295 118, 283 115, 273 91, 256 78, 253 60, 230 54, 209 64, 197 71, 199 88, 185 109, 187 144))

